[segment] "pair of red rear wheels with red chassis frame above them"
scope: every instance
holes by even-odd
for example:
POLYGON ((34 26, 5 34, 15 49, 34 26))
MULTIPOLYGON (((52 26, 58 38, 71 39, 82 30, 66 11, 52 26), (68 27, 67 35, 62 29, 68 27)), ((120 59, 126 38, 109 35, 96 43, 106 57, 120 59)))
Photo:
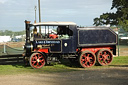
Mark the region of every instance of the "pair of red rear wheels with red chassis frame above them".
POLYGON ((112 47, 90 47, 82 48, 81 50, 76 49, 76 51, 81 53, 80 65, 82 67, 91 67, 95 65, 96 58, 100 65, 108 65, 109 63, 111 63, 113 55, 110 50, 112 49, 112 47))

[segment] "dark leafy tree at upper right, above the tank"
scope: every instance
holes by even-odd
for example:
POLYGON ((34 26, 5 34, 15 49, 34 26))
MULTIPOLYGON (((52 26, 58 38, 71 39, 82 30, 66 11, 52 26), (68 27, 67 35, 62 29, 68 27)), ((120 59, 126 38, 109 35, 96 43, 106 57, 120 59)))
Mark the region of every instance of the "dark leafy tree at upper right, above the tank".
POLYGON ((94 25, 121 26, 128 31, 128 0, 113 0, 111 10, 116 8, 115 13, 103 13, 94 19, 94 25))

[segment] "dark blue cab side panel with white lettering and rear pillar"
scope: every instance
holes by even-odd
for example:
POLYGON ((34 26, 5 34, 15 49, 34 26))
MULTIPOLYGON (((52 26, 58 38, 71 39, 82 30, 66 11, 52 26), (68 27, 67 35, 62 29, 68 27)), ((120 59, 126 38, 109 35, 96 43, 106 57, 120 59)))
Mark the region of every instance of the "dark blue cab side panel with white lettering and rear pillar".
POLYGON ((73 35, 69 39, 42 39, 36 38, 33 41, 34 48, 41 45, 42 48, 49 48, 49 53, 75 53, 77 49, 77 29, 76 26, 69 26, 73 35))

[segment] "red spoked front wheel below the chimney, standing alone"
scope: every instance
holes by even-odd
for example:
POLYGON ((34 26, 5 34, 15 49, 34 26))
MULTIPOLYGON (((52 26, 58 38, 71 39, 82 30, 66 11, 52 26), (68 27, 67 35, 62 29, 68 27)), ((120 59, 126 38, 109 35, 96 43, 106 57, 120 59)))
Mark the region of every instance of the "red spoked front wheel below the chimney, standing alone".
POLYGON ((45 58, 40 53, 33 53, 30 57, 30 65, 32 68, 41 68, 45 65, 45 58))

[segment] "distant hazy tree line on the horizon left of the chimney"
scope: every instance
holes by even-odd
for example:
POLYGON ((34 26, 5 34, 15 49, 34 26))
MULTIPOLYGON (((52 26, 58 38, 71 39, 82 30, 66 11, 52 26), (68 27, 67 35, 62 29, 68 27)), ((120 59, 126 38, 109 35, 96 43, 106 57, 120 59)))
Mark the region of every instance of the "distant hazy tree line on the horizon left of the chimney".
POLYGON ((10 30, 0 30, 0 36, 18 36, 18 35, 24 35, 25 31, 18 31, 18 32, 13 32, 10 30))

